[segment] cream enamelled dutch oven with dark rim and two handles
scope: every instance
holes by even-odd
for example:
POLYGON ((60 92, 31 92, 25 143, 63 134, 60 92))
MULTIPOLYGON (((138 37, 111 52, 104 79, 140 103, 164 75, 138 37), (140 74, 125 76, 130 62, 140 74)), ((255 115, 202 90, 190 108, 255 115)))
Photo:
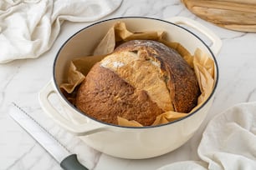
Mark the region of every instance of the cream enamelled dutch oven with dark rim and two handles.
POLYGON ((221 40, 210 30, 201 24, 187 18, 170 18, 166 21, 154 18, 114 18, 100 23, 95 23, 87 28, 76 32, 60 48, 53 70, 53 80, 47 84, 39 93, 39 101, 44 111, 47 112, 54 121, 70 133, 74 133, 81 138, 84 143, 96 150, 118 158, 152 158, 179 148, 186 143, 189 138, 200 127, 203 119, 207 115, 209 107, 212 105, 213 94, 218 82, 218 66, 214 55, 217 55, 222 46, 221 40), (91 117, 85 116, 76 107, 70 104, 59 90, 59 84, 65 80, 65 72, 68 63, 74 57, 90 55, 96 44, 104 37, 105 33, 114 23, 123 21, 132 32, 146 30, 164 30, 171 41, 179 42, 190 52, 194 52, 199 47, 203 52, 209 54, 215 62, 216 77, 215 86, 207 102, 197 111, 192 112, 187 117, 183 117, 175 122, 164 125, 144 128, 126 128, 99 122, 91 117), (202 32, 208 37, 212 45, 207 47, 205 42, 197 37, 193 32, 179 26, 180 24, 202 32), (57 94, 61 105, 69 112, 69 117, 64 117, 54 104, 49 100, 52 94, 57 94))

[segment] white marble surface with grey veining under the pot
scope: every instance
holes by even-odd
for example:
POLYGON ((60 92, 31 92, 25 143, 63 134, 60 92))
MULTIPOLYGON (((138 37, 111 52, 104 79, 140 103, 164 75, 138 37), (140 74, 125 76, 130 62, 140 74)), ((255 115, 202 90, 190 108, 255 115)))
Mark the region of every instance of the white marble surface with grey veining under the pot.
POLYGON ((64 23, 58 39, 49 52, 38 59, 0 65, 0 170, 61 169, 54 158, 8 116, 11 102, 17 102, 49 128, 49 131, 71 151, 79 153, 81 162, 90 169, 151 170, 168 163, 198 160, 197 146, 207 122, 214 115, 236 103, 256 100, 256 34, 218 28, 190 13, 179 0, 124 0, 121 7, 106 18, 125 16, 162 19, 183 16, 202 23, 221 37, 223 47, 217 56, 220 72, 218 88, 207 119, 197 134, 172 153, 145 160, 126 160, 99 153, 56 126, 42 111, 38 103, 38 92, 52 77, 54 57, 61 44, 74 32, 89 24, 64 23))

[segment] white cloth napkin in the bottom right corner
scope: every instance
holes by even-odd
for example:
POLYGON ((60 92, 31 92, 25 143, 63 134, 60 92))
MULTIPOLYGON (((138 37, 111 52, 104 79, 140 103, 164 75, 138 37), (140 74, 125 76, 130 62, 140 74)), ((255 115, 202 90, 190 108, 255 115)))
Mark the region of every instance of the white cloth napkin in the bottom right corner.
POLYGON ((158 170, 255 170, 256 102, 238 104, 214 117, 197 152, 200 162, 172 163, 158 170))

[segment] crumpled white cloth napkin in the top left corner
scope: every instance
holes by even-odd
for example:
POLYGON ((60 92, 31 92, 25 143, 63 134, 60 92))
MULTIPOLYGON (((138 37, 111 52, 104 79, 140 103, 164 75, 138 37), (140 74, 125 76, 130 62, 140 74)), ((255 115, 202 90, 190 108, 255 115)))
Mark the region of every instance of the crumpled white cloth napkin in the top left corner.
POLYGON ((122 0, 1 0, 0 63, 35 58, 52 47, 60 25, 93 22, 122 0))

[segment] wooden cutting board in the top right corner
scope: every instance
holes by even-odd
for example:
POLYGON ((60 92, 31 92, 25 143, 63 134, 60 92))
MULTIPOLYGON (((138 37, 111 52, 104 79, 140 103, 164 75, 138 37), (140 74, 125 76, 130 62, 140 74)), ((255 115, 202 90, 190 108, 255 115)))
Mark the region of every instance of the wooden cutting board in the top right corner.
POLYGON ((256 0, 181 0, 198 17, 220 27, 256 32, 256 0))

